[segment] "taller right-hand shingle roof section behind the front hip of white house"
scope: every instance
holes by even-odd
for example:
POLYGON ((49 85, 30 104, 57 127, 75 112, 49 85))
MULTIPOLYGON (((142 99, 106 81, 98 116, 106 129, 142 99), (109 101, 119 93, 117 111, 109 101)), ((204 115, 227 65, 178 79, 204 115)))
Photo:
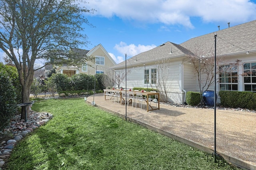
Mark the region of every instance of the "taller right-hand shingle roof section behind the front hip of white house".
MULTIPOLYGON (((256 50, 256 20, 216 31, 217 55, 256 50)), ((214 49, 214 33, 189 39, 182 47, 192 50, 196 44, 214 49)))

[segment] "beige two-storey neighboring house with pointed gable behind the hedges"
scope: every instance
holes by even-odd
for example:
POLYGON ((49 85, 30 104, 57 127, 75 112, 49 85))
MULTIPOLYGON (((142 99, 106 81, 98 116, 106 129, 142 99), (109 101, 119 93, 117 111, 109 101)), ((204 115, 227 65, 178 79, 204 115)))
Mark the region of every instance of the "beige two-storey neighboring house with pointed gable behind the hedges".
POLYGON ((75 66, 67 66, 62 65, 56 68, 57 73, 67 74, 69 76, 73 76, 74 74, 79 73, 90 73, 90 74, 99 74, 104 73, 108 68, 116 65, 116 62, 112 59, 112 57, 108 54, 108 52, 104 49, 104 47, 99 44, 92 48, 91 50, 83 50, 83 49, 72 49, 76 52, 83 54, 84 56, 92 56, 96 58, 95 63, 88 62, 83 65, 82 68, 77 68, 75 66), (90 66, 91 65, 91 66, 90 66), (97 70, 96 70, 96 65, 97 70))

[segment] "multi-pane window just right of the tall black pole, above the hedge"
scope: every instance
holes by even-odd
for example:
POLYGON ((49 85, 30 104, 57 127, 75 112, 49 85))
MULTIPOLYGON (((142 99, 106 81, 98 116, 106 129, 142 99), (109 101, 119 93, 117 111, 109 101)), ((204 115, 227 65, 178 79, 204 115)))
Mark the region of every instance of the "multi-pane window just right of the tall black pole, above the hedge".
POLYGON ((237 66, 220 66, 219 76, 220 90, 238 91, 237 66))

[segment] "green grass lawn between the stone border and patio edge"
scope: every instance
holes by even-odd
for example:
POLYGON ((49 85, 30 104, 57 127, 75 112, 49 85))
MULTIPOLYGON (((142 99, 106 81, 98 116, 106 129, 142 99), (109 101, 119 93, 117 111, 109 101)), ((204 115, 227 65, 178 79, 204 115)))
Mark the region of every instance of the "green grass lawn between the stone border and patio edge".
POLYGON ((35 102, 54 117, 12 151, 7 170, 232 170, 193 147, 68 98, 35 102))

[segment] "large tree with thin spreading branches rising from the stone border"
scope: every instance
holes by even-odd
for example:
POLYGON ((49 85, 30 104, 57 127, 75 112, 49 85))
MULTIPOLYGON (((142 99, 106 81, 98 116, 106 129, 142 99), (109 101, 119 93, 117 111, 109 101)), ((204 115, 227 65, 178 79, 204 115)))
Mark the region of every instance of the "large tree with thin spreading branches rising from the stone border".
POLYGON ((90 25, 83 13, 93 12, 78 5, 78 0, 0 0, 0 6, 0 49, 18 70, 23 103, 30 102, 34 71, 40 69, 34 69, 36 60, 74 66, 88 60, 70 51, 88 43, 81 33, 82 24, 90 25))

